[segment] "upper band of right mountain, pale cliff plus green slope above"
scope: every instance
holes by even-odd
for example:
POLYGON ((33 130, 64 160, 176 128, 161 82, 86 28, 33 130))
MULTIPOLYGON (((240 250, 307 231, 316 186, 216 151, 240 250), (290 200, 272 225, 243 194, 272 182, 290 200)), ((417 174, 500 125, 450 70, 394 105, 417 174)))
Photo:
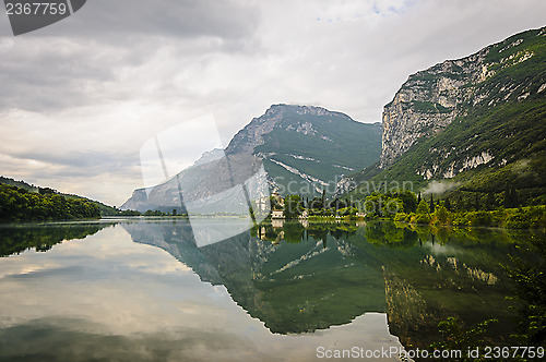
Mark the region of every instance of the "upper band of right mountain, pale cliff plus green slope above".
MULTIPOLYGON (((380 168, 392 165, 418 140, 439 134, 477 108, 490 109, 539 94, 545 82, 537 76, 541 62, 544 70, 545 35, 545 28, 518 34, 470 57, 411 75, 383 110, 380 168)), ((454 177, 459 169, 467 168, 441 171, 454 177)), ((438 170, 423 172, 430 179, 438 170)))

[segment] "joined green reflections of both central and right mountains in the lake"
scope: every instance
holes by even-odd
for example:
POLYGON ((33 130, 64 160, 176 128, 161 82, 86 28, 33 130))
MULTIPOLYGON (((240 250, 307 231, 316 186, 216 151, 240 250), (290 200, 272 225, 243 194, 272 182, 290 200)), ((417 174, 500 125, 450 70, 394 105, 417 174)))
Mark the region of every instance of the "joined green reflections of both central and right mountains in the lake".
MULTIPOLYGON (((275 221, 275 220, 274 220, 275 221)), ((189 225, 123 225, 159 246, 274 333, 313 331, 387 312, 406 346, 427 347, 438 323, 498 318, 491 339, 514 328, 511 285, 501 265, 529 232, 435 229, 395 222, 271 222, 198 248, 189 225)))

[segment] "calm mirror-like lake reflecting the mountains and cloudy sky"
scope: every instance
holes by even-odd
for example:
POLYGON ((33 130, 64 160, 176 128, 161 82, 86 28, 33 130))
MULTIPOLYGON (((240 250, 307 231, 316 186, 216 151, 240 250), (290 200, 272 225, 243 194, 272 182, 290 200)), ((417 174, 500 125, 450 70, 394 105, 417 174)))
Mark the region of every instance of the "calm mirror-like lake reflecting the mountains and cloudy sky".
POLYGON ((428 347, 449 316, 515 327, 501 265, 529 230, 277 221, 206 242, 245 222, 1 226, 0 359, 314 361, 428 347))

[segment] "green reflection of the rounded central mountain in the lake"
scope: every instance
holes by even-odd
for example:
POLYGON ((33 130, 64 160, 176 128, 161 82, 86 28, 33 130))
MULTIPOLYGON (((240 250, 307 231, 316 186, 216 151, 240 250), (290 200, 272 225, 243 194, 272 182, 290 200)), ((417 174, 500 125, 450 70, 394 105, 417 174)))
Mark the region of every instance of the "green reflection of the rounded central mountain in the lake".
POLYGON ((203 281, 224 285, 232 298, 273 333, 290 334, 347 324, 385 310, 380 265, 328 226, 261 226, 198 248, 189 224, 127 224, 135 242, 164 249, 203 281), (261 233, 263 230, 263 234, 261 233), (270 241, 271 240, 271 241, 270 241))

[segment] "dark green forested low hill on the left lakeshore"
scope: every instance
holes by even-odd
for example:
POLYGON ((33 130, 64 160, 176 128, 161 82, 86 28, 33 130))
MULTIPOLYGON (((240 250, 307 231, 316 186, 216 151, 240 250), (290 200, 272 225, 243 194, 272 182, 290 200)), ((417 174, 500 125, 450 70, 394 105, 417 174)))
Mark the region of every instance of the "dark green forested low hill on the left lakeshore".
POLYGON ((98 205, 84 198, 69 198, 51 189, 31 192, 0 184, 0 220, 70 220, 99 218, 98 205))

